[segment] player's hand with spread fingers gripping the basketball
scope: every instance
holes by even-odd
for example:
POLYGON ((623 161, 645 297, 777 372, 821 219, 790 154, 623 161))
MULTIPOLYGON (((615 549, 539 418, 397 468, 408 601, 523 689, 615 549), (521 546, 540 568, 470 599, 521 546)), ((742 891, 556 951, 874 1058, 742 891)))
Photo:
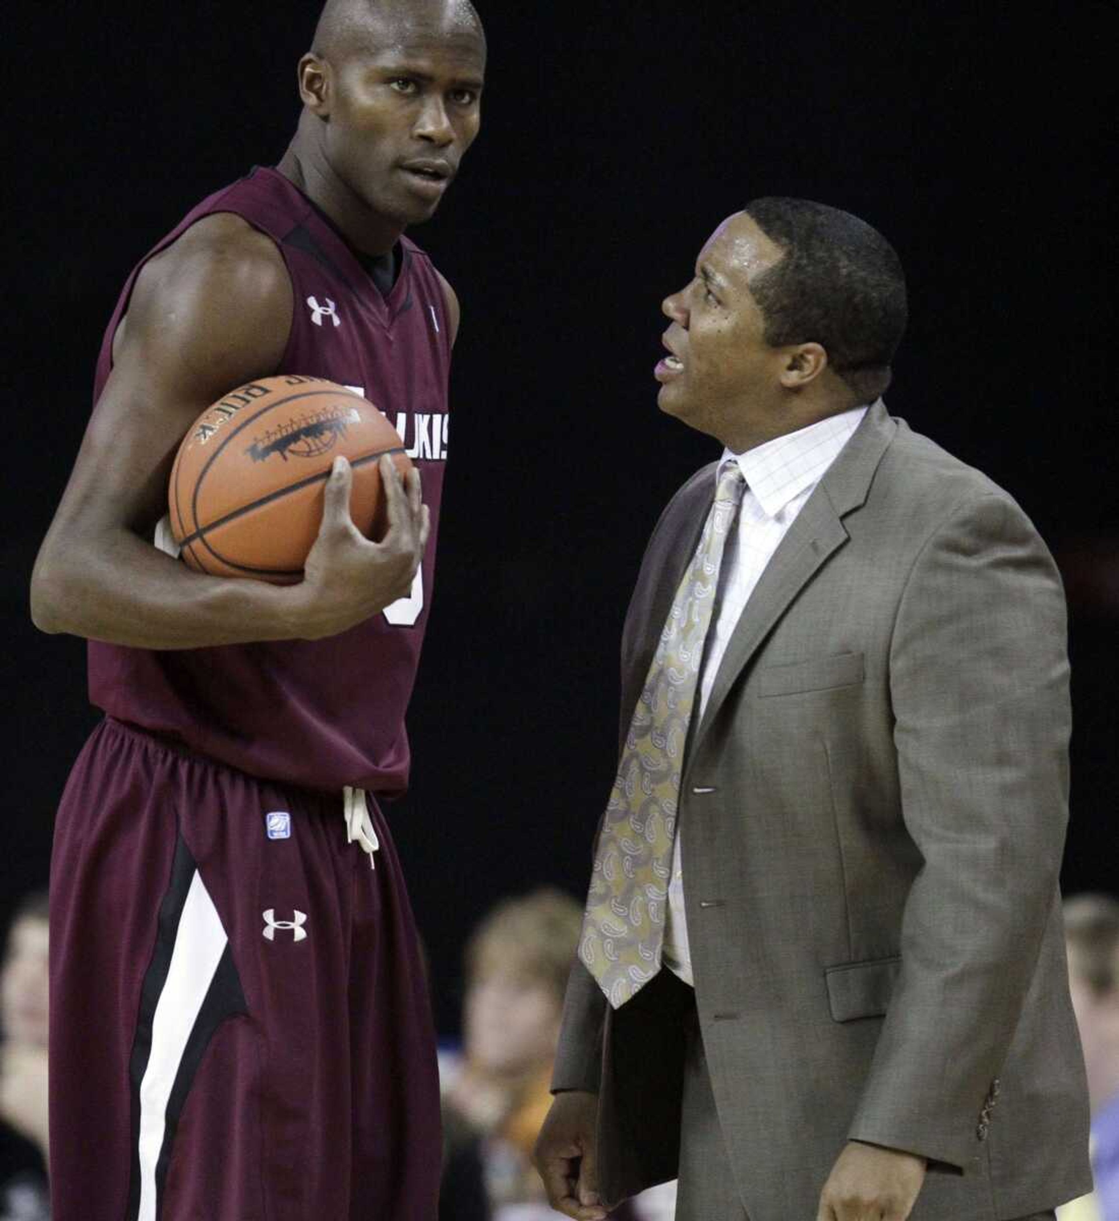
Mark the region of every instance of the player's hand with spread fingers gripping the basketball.
POLYGON ((350 516, 354 473, 344 458, 334 459, 326 481, 322 524, 295 586, 298 635, 305 640, 334 636, 405 597, 423 559, 431 519, 422 503, 420 473, 406 482, 388 454, 378 470, 384 488, 388 530, 371 542, 350 516))

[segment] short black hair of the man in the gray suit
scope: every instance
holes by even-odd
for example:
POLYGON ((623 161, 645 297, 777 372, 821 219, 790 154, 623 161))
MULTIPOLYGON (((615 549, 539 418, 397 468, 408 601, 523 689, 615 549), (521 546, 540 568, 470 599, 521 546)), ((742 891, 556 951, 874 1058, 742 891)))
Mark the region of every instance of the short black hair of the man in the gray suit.
POLYGON ((746 214, 785 252, 750 280, 765 342, 821 344, 859 402, 874 402, 890 385, 908 317, 893 247, 858 216, 808 199, 755 199, 746 214))

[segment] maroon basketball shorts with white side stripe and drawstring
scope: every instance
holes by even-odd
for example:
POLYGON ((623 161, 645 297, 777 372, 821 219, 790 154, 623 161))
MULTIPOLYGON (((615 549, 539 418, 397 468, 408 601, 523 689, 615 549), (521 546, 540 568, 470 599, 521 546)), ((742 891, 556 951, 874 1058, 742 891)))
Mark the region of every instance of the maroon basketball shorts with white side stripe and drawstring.
POLYGON ((342 794, 106 720, 51 863, 55 1221, 433 1221, 434 1037, 400 867, 342 794))

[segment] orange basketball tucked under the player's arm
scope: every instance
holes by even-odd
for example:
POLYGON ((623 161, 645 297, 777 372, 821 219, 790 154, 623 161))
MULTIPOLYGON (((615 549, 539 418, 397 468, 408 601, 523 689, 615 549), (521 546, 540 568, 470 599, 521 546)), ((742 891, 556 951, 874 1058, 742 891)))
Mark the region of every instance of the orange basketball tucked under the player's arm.
POLYGON ((188 568, 276 585, 303 579, 334 458, 354 468, 350 515, 383 534, 377 462, 411 466, 397 430, 360 394, 321 377, 262 377, 220 398, 179 446, 171 531, 188 568))

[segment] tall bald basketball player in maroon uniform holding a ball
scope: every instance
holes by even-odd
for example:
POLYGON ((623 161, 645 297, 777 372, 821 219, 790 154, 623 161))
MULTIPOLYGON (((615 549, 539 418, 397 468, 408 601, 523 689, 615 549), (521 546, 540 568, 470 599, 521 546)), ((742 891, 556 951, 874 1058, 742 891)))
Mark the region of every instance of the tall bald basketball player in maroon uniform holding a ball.
POLYGON ((373 795, 408 778, 459 320, 403 234, 484 65, 467 0, 329 0, 284 158, 195 208, 109 325, 32 589, 106 714, 52 858, 55 1221, 436 1216, 430 1005, 373 795), (151 541, 179 440, 282 374, 359 388, 419 473, 382 462, 372 543, 339 460, 300 585, 190 573, 151 541))

